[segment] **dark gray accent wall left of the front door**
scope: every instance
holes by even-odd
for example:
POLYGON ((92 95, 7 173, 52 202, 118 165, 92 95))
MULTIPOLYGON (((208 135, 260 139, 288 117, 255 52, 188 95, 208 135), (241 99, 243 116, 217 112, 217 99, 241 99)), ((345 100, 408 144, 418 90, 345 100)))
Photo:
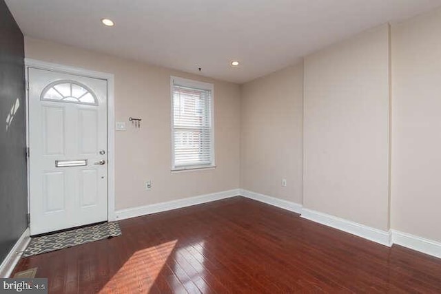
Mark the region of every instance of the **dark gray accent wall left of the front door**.
POLYGON ((0 262, 28 227, 24 38, 0 0, 0 262))

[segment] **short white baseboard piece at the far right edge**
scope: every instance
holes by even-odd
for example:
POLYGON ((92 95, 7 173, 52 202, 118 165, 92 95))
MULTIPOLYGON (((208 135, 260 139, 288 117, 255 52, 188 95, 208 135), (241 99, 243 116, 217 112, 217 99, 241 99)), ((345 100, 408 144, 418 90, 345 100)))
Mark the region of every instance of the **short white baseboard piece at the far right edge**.
POLYGON ((398 244, 422 253, 426 253, 436 258, 441 258, 441 243, 429 239, 424 239, 409 233, 392 231, 393 244, 398 244))

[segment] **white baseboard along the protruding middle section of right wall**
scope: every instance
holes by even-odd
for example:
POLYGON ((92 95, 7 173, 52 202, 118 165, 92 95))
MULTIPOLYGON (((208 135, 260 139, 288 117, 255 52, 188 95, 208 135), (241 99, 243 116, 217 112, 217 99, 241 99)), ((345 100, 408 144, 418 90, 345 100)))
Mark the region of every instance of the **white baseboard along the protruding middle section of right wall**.
POLYGON ((340 231, 351 233, 352 235, 357 235, 358 237, 365 238, 385 246, 392 246, 391 233, 387 231, 374 229, 372 227, 365 226, 364 224, 358 224, 357 222, 351 222, 350 220, 330 216, 329 214, 311 209, 302 209, 301 217, 306 218, 307 220, 312 220, 313 222, 325 224, 325 226, 332 227, 340 231))

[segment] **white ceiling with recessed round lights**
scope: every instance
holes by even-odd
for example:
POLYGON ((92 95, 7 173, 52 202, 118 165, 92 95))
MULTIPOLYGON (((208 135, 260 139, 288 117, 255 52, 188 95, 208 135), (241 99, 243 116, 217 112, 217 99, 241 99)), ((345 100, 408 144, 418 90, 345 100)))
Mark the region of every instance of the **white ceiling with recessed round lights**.
POLYGON ((441 0, 6 0, 23 34, 235 83, 441 0), (107 28, 100 19, 116 25, 107 28), (231 67, 229 61, 240 61, 231 67))

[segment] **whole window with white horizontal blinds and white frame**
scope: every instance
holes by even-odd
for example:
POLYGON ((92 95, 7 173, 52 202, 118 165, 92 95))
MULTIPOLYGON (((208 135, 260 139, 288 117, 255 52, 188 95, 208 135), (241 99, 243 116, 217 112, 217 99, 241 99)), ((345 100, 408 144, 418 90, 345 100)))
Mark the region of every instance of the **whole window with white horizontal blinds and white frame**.
POLYGON ((213 85, 172 77, 172 169, 214 167, 213 85))

